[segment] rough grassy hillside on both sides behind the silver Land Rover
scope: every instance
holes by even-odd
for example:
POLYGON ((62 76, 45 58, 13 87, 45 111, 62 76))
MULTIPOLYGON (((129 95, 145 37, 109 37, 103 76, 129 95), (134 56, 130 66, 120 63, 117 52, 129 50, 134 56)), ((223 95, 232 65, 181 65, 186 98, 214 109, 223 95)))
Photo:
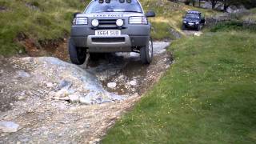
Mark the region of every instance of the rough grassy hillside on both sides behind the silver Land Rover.
MULTIPOLYGON (((74 12, 84 10, 89 1, 81 0, 2 0, 0 2, 0 54, 26 53, 26 49, 54 49, 70 34, 71 18, 74 12)), ((182 14, 194 9, 167 0, 142 0, 145 10, 155 10, 152 18, 153 38, 174 38, 170 27, 179 31, 182 14)), ((206 15, 211 10, 202 10, 206 15)), ((64 46, 65 47, 65 46, 64 46)), ((64 49, 64 47, 62 49, 64 49)))

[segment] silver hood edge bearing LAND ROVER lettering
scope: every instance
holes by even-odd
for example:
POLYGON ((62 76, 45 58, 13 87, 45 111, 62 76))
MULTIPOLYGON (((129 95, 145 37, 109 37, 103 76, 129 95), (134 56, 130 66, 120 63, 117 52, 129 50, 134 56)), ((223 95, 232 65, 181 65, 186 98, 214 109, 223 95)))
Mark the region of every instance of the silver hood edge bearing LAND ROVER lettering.
POLYGON ((142 13, 133 12, 111 12, 111 13, 92 13, 92 14, 78 14, 77 17, 88 17, 88 18, 122 18, 122 17, 142 17, 142 13))

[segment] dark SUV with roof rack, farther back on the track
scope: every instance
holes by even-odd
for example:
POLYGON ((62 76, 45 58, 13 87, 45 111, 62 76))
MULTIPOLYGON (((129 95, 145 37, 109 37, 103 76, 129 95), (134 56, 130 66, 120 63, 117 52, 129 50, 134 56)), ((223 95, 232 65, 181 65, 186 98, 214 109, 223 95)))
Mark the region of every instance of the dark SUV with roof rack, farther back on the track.
POLYGON ((206 24, 206 19, 203 14, 199 11, 189 10, 183 17, 182 30, 195 29, 201 30, 206 24))

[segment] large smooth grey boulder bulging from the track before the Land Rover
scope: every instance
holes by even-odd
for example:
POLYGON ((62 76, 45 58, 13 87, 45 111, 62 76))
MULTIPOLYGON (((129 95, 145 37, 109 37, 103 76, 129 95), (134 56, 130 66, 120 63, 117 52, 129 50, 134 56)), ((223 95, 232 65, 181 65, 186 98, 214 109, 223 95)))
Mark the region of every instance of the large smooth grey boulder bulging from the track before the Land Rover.
POLYGON ((55 99, 83 104, 122 100, 121 96, 104 90, 93 74, 58 58, 21 58, 19 61, 30 67, 30 74, 35 81, 46 82, 46 89, 55 99), (53 90, 49 89, 49 82, 57 84, 53 90))

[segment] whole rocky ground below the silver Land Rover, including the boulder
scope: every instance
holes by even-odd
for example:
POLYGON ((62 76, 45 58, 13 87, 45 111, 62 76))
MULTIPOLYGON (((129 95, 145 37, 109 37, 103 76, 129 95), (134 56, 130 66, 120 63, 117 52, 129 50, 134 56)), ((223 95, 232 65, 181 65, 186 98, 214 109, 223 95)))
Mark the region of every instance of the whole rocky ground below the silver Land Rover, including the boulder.
POLYGON ((0 58, 0 143, 98 143, 172 62, 154 42, 154 62, 108 54, 74 66, 58 58, 0 58))

